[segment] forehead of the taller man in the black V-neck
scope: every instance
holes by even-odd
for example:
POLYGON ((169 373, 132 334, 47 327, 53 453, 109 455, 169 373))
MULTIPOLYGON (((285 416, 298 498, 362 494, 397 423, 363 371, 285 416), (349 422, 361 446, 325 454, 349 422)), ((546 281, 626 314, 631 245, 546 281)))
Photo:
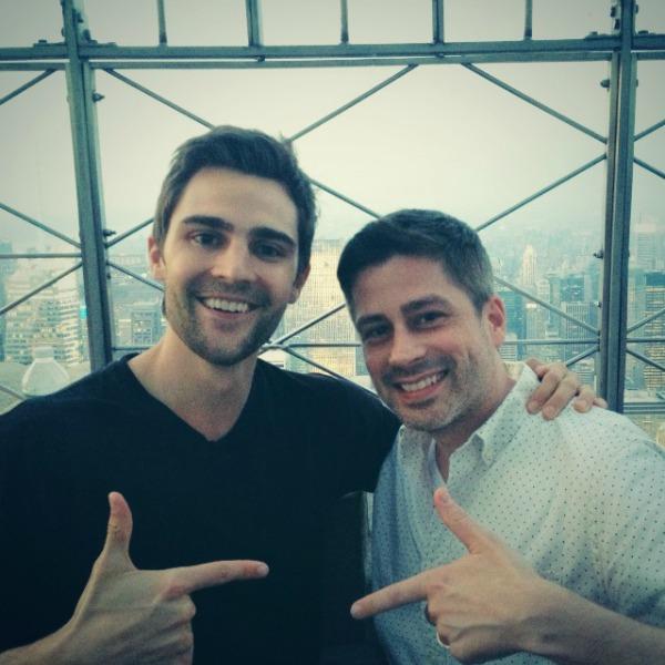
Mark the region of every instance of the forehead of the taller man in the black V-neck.
POLYGON ((171 225, 190 216, 219 217, 234 227, 268 226, 298 238, 298 212, 277 181, 231 168, 202 168, 186 184, 171 225))

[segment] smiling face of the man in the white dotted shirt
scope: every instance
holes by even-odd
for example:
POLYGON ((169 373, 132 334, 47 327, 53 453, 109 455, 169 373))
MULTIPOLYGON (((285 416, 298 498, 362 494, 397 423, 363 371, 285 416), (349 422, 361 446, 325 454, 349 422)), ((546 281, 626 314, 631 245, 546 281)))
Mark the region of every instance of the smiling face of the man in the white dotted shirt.
POLYGON ((360 273, 351 307, 374 385, 405 424, 463 440, 503 399, 497 296, 478 313, 439 263, 396 256, 360 273))

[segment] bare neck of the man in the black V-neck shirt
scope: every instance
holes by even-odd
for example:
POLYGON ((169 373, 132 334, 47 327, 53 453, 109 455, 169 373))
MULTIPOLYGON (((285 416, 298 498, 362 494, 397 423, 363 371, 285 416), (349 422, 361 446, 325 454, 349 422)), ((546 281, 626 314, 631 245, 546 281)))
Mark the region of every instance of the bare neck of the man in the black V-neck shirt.
POLYGON ((130 368, 155 399, 211 441, 226 434, 245 407, 256 355, 231 367, 212 365, 194 354, 171 328, 130 368))

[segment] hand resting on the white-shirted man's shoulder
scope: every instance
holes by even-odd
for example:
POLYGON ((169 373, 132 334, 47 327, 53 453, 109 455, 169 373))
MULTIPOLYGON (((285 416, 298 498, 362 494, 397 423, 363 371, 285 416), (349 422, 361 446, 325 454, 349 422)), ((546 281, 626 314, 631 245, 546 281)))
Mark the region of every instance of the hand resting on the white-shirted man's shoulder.
POLYGON ((535 358, 529 358, 525 362, 541 380, 529 398, 526 410, 530 413, 541 411, 545 420, 552 420, 571 400, 573 408, 581 413, 589 411, 592 406, 607 408, 607 402, 596 397, 591 386, 583 386, 577 375, 563 362, 545 365, 535 358))

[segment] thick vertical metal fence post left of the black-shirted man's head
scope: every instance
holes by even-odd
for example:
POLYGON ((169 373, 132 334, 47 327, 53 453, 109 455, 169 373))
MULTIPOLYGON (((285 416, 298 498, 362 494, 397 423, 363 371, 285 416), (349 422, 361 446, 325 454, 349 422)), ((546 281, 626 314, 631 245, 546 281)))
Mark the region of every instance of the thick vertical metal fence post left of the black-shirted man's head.
POLYGON ((106 283, 106 255, 102 182, 99 163, 94 73, 79 57, 81 35, 88 34, 78 0, 62 0, 64 39, 68 48, 66 89, 70 106, 79 233, 83 252, 83 283, 88 309, 91 369, 112 360, 111 316, 106 283))

